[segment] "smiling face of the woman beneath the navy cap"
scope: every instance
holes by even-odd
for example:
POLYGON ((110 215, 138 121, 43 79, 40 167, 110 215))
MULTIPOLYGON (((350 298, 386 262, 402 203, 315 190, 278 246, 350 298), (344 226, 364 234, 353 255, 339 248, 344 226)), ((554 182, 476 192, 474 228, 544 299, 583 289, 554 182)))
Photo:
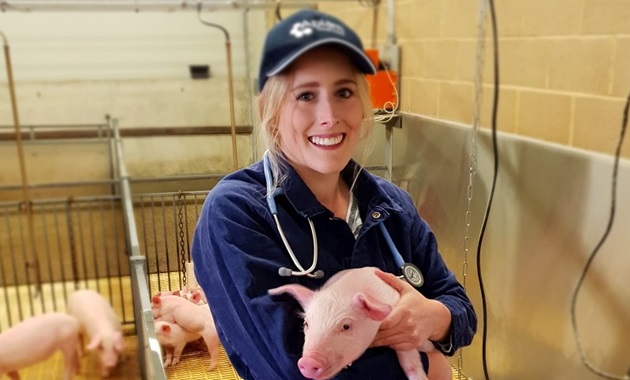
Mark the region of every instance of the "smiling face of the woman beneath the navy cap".
POLYGON ((357 70, 332 47, 303 54, 287 70, 280 148, 302 177, 338 175, 357 147, 363 109, 357 70))

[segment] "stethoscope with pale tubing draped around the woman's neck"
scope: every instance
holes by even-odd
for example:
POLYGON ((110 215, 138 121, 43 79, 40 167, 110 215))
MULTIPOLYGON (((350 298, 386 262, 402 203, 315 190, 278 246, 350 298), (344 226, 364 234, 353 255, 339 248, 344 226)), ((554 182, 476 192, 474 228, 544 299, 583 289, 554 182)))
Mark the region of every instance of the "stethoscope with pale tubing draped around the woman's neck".
MULTIPOLYGON (((324 277, 324 272, 322 270, 315 270, 315 266, 317 266, 317 258, 318 258, 319 250, 317 247, 317 233, 315 232, 315 226, 313 225, 313 221, 311 220, 311 218, 307 218, 307 220, 308 220, 309 226, 311 227, 311 237, 313 239, 313 263, 308 269, 304 269, 304 267, 302 267, 302 265, 300 264, 300 261, 295 256, 295 253, 293 253, 293 250, 291 249, 291 245, 287 241, 286 236, 284 235, 284 231, 282 230, 282 227, 280 226, 280 221, 278 220, 278 209, 276 206, 276 199, 275 199, 276 196, 282 194, 284 190, 281 187, 275 187, 275 188, 273 187, 273 173, 271 172, 271 167, 269 164, 268 151, 265 151, 263 155, 263 170, 265 172, 265 182, 267 185, 266 198, 267 198, 267 205, 269 206, 269 211, 271 211, 273 220, 276 222, 276 227, 278 228, 278 232, 280 233, 282 242, 284 243, 285 248, 289 252, 289 255, 291 256, 291 260, 293 261, 293 264, 295 264, 295 266, 298 268, 297 271, 294 271, 287 267, 280 267, 278 269, 278 274, 282 277, 290 277, 290 276, 308 276, 311 278, 324 277)), ((400 254, 400 252, 398 252, 398 249, 396 249, 396 245, 394 244, 392 237, 389 235, 387 228, 385 228, 385 224, 379 223, 378 227, 381 230, 381 233, 383 234, 383 236, 385 237, 385 242, 387 243, 387 246, 392 251, 392 255, 394 256, 396 265, 398 265, 398 267, 402 271, 401 277, 404 278, 411 285, 415 286, 416 288, 421 287, 422 284, 424 283, 424 277, 422 276, 422 272, 420 272, 420 269, 418 269, 418 267, 416 267, 412 263, 405 263, 405 261, 402 258, 402 255, 400 254)))

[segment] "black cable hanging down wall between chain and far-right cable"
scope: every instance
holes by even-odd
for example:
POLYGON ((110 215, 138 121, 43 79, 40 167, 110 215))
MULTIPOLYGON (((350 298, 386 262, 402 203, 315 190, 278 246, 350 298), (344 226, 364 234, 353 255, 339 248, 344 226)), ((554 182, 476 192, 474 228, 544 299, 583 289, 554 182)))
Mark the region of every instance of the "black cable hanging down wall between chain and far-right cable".
POLYGON ((483 287, 483 279, 481 275, 481 244, 483 242, 483 236, 485 234, 486 226, 488 224, 488 215, 492 208, 492 200, 494 198, 494 190, 497 183, 497 176, 499 172, 499 151, 497 146, 497 114, 499 109, 499 42, 497 36, 497 17, 494 9, 494 1, 488 0, 490 6, 490 16, 492 20, 492 45, 494 50, 494 100, 492 103, 492 149, 494 154, 494 173, 492 175, 492 188, 490 189, 490 195, 488 197, 488 204, 486 206, 486 212, 483 216, 483 223, 481 225, 481 232, 479 233, 479 243, 477 244, 477 278, 479 279, 479 289, 481 291, 481 305, 483 309, 483 337, 482 337, 482 362, 483 373, 487 380, 490 380, 488 374, 488 363, 486 358, 487 351, 487 339, 488 339, 488 308, 486 306, 486 293, 483 287))

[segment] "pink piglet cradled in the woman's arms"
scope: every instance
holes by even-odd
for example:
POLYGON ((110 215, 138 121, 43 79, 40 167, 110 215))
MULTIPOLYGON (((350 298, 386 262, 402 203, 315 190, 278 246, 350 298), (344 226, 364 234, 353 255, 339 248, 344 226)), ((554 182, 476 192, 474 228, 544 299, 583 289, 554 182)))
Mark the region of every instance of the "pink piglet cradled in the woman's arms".
MULTIPOLYGON (((397 290, 376 276, 376 270, 341 271, 318 291, 298 284, 269 289, 271 295, 290 294, 304 310, 304 347, 298 361, 304 377, 330 379, 370 346, 381 321, 400 299, 397 290)), ((426 342, 422 349, 435 348, 426 342)), ((418 351, 396 354, 409 380, 427 379, 418 351)))

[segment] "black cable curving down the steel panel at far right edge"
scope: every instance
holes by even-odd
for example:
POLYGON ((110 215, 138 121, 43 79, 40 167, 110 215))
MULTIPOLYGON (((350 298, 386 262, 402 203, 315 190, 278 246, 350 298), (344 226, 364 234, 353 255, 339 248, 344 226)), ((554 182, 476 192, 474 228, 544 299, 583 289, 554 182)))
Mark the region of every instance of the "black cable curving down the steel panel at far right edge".
MULTIPOLYGON (((617 175, 619 172, 619 157, 621 156, 621 147, 623 145, 624 136, 626 134, 626 128, 628 126, 628 110, 630 109, 630 93, 628 94, 628 98, 626 99, 626 106, 623 110, 623 120, 621 122, 621 132, 619 135, 619 141, 617 142, 617 149, 615 150, 615 161, 613 164, 613 174, 612 174, 612 195, 610 199, 610 216, 608 218, 608 225, 606 226, 606 230, 602 235, 601 239, 593 249, 593 252, 589 255, 588 260, 586 260, 586 265, 580 274, 580 279, 578 280, 577 285, 575 286, 575 290, 573 291, 573 298, 571 299, 571 323, 573 324, 573 336, 575 337, 575 342, 578 348, 578 352, 580 354, 580 359, 582 363, 594 374, 606 378, 606 379, 629 379, 630 373, 628 373, 625 377, 614 376, 611 374, 604 373, 597 368, 595 368, 585 357, 584 352, 582 352, 582 346, 580 345, 580 339, 578 337, 578 328, 577 328, 577 317, 575 313, 575 308, 577 304, 577 296, 584 282, 584 278, 586 277, 586 273, 588 269, 591 267, 593 260, 595 259, 595 255, 599 252, 599 249, 604 244, 604 241, 608 238, 608 234, 612 230, 613 221, 615 219, 615 209, 617 204, 617 175)), ((630 371, 629 371, 630 372, 630 371)))

